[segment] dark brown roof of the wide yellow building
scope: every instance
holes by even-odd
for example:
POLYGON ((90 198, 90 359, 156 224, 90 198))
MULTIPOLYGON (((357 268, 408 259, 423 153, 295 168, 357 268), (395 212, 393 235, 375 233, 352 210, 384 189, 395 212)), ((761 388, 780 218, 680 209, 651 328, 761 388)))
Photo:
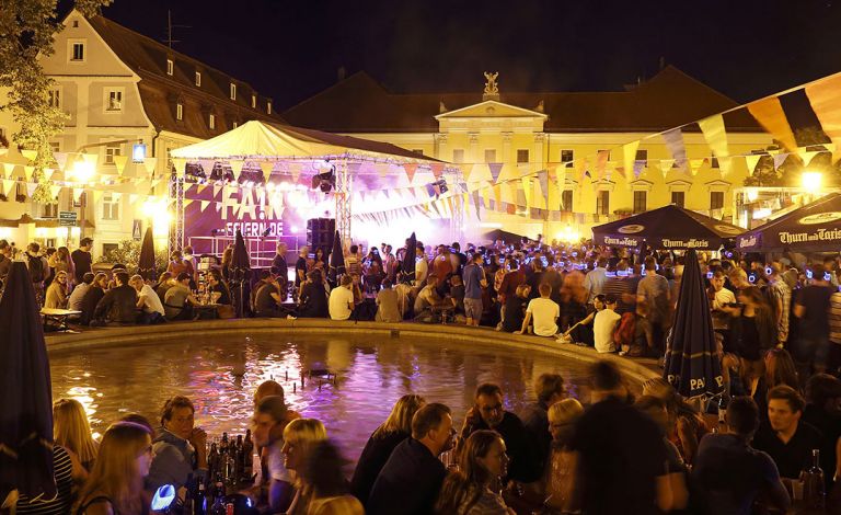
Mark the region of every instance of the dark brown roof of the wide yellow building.
MULTIPOLYGON (((504 79, 504 78, 503 78, 504 79)), ((738 104, 667 66, 625 91, 506 93, 499 101, 535 110, 543 102, 551 133, 655 133, 695 122, 738 104)), ((336 133, 431 133, 440 105, 457 110, 482 102, 476 93, 392 93, 365 72, 315 94, 283 113, 292 125, 336 133)), ((744 111, 744 110, 742 110, 744 111)), ((746 112, 725 116, 728 130, 760 130, 746 112)), ((696 126, 695 126, 696 129, 696 126)))

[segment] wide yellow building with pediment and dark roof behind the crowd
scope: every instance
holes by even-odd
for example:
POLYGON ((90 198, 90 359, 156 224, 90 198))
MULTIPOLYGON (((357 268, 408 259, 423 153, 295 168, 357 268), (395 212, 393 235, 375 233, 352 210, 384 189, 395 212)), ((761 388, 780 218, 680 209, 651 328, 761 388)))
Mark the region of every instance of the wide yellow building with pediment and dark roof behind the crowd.
MULTIPOLYGON (((503 202, 518 207, 482 209, 479 217, 474 207, 465 208, 468 238, 491 228, 548 239, 589 236, 592 225, 670 203, 731 219, 733 190, 748 176, 745 160, 723 172, 694 122, 736 107, 735 101, 670 66, 615 92, 500 93, 496 76, 485 76, 484 92, 480 87, 476 93, 402 94, 359 72, 283 117, 460 163, 466 191, 488 198, 494 196, 488 186, 503 182, 503 202), (638 146, 636 173, 629 171, 626 179, 619 170, 621 146, 684 125, 686 167, 668 168, 673 156, 657 136, 638 146), (599 153, 606 150, 610 153, 599 153), (603 165, 597 156, 603 156, 603 165), (561 186, 545 179, 540 184, 541 170, 553 170, 561 186), (523 176, 534 178, 529 192, 523 176)), ((724 122, 730 154, 772 145, 744 111, 724 115, 724 122)))

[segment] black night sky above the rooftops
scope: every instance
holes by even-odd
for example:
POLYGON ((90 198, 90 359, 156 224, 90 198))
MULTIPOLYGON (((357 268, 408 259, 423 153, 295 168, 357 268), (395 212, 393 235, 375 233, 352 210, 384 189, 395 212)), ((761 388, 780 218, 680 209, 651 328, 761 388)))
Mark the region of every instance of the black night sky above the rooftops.
POLYGON ((618 90, 660 57, 746 102, 841 70, 841 0, 115 0, 103 13, 281 107, 344 66, 398 92, 618 90))

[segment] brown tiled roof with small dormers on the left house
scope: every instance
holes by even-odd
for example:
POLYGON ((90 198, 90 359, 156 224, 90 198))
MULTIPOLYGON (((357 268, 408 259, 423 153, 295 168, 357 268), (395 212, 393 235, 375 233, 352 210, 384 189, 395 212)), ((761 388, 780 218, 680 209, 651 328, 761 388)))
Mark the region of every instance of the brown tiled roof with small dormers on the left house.
MULTIPOLYGON (((143 108, 155 127, 206 139, 250 119, 283 123, 275 113, 266 113, 269 98, 260 95, 247 82, 238 80, 216 68, 139 34, 104 16, 89 20, 112 50, 140 76, 143 108), (166 59, 173 61, 173 75, 166 75, 166 59), (195 72, 201 73, 196 85, 195 72), (230 84, 237 84, 237 100, 230 99, 230 84), (257 95, 252 108, 252 94, 257 95), (184 99, 184 119, 175 119, 175 99, 184 99), (210 129, 207 115, 216 115, 216 129, 210 129)), ((274 105, 273 105, 274 107, 274 105)))

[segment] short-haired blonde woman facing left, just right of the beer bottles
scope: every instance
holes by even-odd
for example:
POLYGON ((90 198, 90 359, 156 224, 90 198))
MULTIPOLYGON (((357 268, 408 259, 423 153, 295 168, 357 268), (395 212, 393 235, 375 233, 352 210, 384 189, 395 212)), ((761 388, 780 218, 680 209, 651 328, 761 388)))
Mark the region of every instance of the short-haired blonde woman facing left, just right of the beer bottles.
POLYGON ((315 419, 296 419, 284 428, 284 466, 296 472, 295 496, 286 511, 287 515, 307 515, 312 501, 312 487, 307 483, 300 471, 307 464, 310 450, 319 442, 327 439, 324 424, 315 419))

